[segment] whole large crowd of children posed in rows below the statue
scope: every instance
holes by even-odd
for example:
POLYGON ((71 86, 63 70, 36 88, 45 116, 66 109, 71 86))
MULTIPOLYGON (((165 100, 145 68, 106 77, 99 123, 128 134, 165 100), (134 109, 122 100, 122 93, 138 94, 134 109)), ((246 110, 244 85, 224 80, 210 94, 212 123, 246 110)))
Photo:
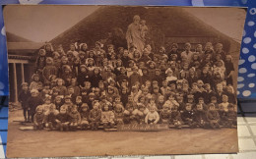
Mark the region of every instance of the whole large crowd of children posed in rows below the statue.
POLYGON ((223 44, 191 44, 143 52, 112 44, 50 43, 39 49, 19 101, 35 130, 97 130, 126 124, 181 129, 236 128, 234 67, 223 44))

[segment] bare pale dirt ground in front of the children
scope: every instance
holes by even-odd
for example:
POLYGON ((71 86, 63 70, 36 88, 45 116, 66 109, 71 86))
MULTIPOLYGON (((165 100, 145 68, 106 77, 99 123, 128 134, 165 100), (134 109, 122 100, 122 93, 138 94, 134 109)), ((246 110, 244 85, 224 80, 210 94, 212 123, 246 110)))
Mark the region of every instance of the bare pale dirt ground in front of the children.
POLYGON ((157 155, 237 152, 235 129, 164 132, 20 131, 22 112, 9 113, 8 157, 157 155))

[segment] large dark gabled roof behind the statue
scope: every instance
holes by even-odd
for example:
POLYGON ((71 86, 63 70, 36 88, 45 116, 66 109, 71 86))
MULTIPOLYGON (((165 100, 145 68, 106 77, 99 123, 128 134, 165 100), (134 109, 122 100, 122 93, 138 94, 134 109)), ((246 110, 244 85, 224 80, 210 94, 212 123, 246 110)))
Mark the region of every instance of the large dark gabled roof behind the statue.
POLYGON ((223 42, 228 51, 230 42, 239 46, 239 43, 224 33, 206 25, 180 7, 102 6, 74 27, 52 39, 51 42, 55 46, 62 44, 64 49, 68 49, 70 43, 78 40, 93 46, 97 40, 105 38, 106 33, 113 31, 115 27, 121 28, 121 34, 123 33, 124 36, 135 15, 147 21, 147 26, 154 32, 156 45, 166 43, 162 38, 163 34, 165 37, 213 37, 216 41, 211 42, 223 42))

